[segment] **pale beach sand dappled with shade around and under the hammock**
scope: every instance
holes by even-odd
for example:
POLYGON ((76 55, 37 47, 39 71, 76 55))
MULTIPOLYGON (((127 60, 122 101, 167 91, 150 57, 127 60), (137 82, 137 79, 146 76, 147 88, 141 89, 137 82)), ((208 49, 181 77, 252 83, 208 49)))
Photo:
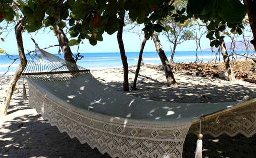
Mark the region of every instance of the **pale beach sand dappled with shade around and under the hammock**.
MULTIPOLYGON (((133 82, 135 67, 130 67, 129 82, 133 82)), ((122 69, 92 70, 91 73, 103 84, 136 97, 165 102, 226 102, 254 97, 256 84, 241 80, 230 83, 217 78, 203 78, 176 72, 179 88, 169 88, 164 73, 143 66, 138 78, 136 91, 122 91, 122 69)), ((10 77, 0 77, 0 104, 3 101, 10 77)), ((26 82, 24 80, 24 82, 26 82)), ((60 133, 51 126, 28 101, 22 99, 22 83, 14 92, 6 117, 0 117, 0 157, 108 157, 97 149, 71 139, 66 133, 60 133)), ((27 86, 27 85, 26 85, 27 86)), ((28 89, 27 89, 27 93, 28 89)), ((183 157, 193 157, 197 137, 188 134, 183 157)), ((203 157, 256 157, 256 136, 246 138, 241 134, 235 137, 221 135, 213 138, 204 135, 203 157)))

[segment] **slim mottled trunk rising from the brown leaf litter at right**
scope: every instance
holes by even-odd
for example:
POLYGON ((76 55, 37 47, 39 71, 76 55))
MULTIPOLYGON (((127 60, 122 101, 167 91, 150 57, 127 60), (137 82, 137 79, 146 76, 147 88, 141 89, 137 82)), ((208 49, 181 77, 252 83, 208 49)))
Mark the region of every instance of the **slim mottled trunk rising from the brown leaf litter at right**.
POLYGON ((229 81, 234 81, 235 80, 235 75, 233 73, 232 67, 229 64, 229 56, 228 56, 228 52, 227 52, 227 48, 224 42, 224 39, 220 39, 220 43, 221 43, 221 52, 222 52, 222 56, 223 56, 223 60, 225 63, 225 67, 226 67, 226 71, 228 73, 228 78, 229 81))

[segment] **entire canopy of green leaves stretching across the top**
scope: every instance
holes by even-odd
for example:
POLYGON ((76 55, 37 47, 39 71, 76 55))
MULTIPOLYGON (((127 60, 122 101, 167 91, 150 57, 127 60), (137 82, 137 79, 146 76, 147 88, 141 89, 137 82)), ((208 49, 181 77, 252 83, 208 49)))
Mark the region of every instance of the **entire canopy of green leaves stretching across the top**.
POLYGON ((167 16, 181 23, 192 16, 204 20, 209 28, 207 37, 212 40, 222 36, 218 32, 224 26, 230 27, 233 33, 242 32, 241 21, 247 10, 240 0, 188 0, 187 12, 184 7, 175 6, 175 1, 18 0, 20 6, 17 6, 12 0, 1 0, 0 22, 13 21, 14 17, 18 19, 22 12, 26 17, 27 31, 35 32, 42 27, 58 25, 62 29, 67 28, 70 37, 74 38, 70 45, 76 45, 83 39, 88 39, 92 45, 97 44, 97 41, 103 40, 103 33, 111 35, 117 32, 119 26, 124 26, 119 19, 124 13, 128 13, 133 22, 144 24, 143 31, 149 32, 149 35, 165 29, 161 21, 167 16))

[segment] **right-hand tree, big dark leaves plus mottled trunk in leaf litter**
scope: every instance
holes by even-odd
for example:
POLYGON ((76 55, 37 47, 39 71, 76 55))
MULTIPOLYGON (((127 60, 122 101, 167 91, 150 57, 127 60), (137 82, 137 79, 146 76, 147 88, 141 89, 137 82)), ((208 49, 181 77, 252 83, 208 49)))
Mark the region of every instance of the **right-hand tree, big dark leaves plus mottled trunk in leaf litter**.
POLYGON ((247 10, 239 0, 189 0, 187 5, 188 17, 195 16, 207 23, 207 38, 211 40, 211 46, 221 46, 229 80, 234 80, 234 74, 229 64, 229 55, 224 43, 226 27, 231 28, 232 33, 242 34, 241 25, 247 10))

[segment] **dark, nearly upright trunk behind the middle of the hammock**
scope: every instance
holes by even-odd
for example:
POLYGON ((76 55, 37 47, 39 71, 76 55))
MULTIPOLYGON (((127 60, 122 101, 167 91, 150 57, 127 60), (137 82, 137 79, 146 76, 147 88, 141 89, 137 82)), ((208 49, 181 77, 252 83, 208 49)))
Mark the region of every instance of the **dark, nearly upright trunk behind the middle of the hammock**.
MULTIPOLYGON (((124 21, 124 16, 120 16, 120 20, 124 21)), ((125 55, 122 36, 123 36, 123 26, 119 26, 117 31, 117 41, 118 41, 121 59, 123 63, 123 69, 124 69, 123 90, 129 91, 129 80, 128 80, 129 70, 128 70, 127 56, 125 55)))

